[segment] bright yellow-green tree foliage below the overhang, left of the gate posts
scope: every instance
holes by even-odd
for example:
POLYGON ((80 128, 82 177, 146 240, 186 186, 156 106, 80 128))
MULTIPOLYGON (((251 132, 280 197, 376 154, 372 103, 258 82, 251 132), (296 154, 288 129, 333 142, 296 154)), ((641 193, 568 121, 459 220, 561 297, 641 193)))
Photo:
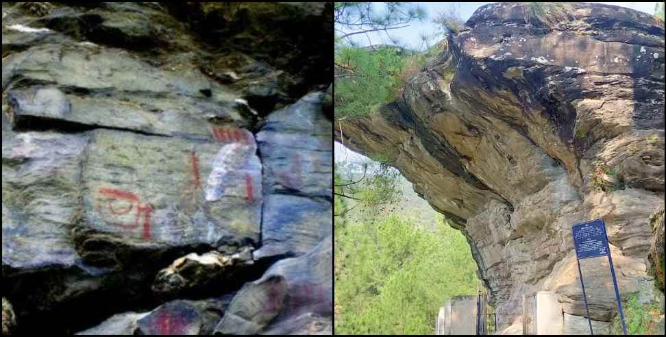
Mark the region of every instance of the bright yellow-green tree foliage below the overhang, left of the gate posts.
POLYGON ((336 236, 336 334, 432 334, 444 301, 480 285, 467 240, 444 219, 424 231, 391 216, 336 236))

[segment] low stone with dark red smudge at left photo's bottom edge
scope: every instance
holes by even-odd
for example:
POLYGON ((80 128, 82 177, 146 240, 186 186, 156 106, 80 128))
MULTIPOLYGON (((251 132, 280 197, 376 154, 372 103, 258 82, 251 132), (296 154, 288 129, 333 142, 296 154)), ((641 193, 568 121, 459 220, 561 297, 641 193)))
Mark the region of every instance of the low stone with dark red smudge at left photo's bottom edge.
POLYGON ((171 301, 151 312, 118 314, 77 335, 210 335, 231 299, 171 301))

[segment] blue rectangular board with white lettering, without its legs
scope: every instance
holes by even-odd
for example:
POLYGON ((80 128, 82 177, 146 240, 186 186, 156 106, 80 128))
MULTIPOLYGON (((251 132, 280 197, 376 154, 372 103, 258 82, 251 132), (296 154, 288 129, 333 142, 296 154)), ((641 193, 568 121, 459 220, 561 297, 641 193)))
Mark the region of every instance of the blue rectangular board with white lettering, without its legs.
POLYGON ((579 259, 597 258, 608 255, 606 226, 599 219, 589 223, 579 223, 572 227, 573 246, 579 259))

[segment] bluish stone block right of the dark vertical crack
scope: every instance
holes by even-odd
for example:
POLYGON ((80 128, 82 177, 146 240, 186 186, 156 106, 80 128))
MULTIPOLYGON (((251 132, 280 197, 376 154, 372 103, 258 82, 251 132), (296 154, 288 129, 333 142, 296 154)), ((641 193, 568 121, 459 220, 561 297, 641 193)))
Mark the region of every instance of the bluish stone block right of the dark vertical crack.
POLYGON ((256 259, 306 253, 332 234, 332 134, 322 104, 323 93, 308 95, 257 135, 266 205, 256 259))

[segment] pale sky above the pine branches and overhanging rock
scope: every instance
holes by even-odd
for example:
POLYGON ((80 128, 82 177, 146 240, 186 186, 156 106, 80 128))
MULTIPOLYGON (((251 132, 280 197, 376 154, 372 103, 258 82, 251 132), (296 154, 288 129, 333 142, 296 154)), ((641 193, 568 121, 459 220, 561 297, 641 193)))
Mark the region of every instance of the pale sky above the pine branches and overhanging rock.
MULTIPOLYGON (((440 12, 442 10, 447 10, 449 6, 454 5, 458 10, 458 13, 460 14, 462 20, 467 21, 467 19, 469 19, 469 17, 474 13, 474 11, 477 8, 481 7, 482 5, 486 5, 488 3, 490 2, 417 2, 415 4, 421 5, 428 13, 428 18, 425 18, 423 22, 410 23, 410 27, 406 27, 403 29, 395 29, 391 31, 391 35, 394 38, 397 38, 401 43, 406 44, 407 47, 410 47, 412 49, 419 49, 419 47, 421 47, 420 46, 421 38, 419 38, 420 34, 425 33, 430 35, 436 32, 437 27, 430 22, 430 18, 435 16, 437 12, 440 12)), ((645 12, 647 14, 654 14, 655 2, 601 2, 601 3, 632 8, 634 10, 640 10, 641 12, 645 12)), ((378 9, 381 10, 380 7, 378 7, 378 9)), ((391 40, 389 40, 383 32, 371 32, 369 33, 369 36, 373 45, 391 44, 391 40)), ((356 38, 356 42, 358 42, 359 45, 361 46, 370 45, 368 38, 365 36, 365 34, 358 34, 357 37, 358 38, 356 38)), ((432 43, 436 42, 437 40, 433 40, 430 43, 432 45, 432 43)), ((351 151, 349 149, 346 149, 338 142, 335 143, 336 161, 349 160, 354 162, 362 162, 365 159, 366 158, 364 156, 355 153, 354 151, 351 151)))

